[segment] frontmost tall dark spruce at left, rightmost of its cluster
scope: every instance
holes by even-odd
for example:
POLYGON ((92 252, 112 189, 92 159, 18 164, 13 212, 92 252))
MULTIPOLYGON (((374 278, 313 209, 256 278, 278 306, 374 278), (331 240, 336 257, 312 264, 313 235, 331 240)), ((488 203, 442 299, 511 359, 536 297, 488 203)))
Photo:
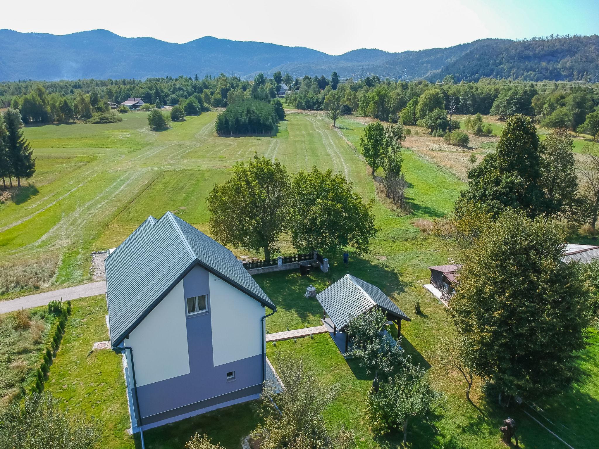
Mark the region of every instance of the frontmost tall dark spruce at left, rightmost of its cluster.
POLYGON ((34 150, 20 129, 22 122, 19 111, 9 108, 4 113, 4 122, 7 129, 10 172, 17 178, 17 187, 20 187, 22 178, 31 178, 35 173, 35 158, 32 157, 34 150))

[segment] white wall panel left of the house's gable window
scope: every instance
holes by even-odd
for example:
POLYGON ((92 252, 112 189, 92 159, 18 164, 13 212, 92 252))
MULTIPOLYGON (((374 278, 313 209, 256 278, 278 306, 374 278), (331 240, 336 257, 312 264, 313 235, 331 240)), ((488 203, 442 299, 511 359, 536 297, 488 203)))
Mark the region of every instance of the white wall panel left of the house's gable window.
POLYGON ((138 386, 189 374, 183 281, 125 339, 138 386))

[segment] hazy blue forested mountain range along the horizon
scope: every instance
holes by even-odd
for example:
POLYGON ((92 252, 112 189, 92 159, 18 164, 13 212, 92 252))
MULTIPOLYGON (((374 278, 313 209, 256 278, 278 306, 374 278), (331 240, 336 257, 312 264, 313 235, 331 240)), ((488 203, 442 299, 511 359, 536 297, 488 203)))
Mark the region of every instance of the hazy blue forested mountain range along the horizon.
POLYGON ((599 36, 512 41, 483 39, 429 50, 389 53, 361 48, 332 56, 306 47, 202 37, 184 44, 155 38, 125 38, 106 30, 68 35, 0 30, 0 81, 120 79, 178 75, 252 78, 258 72, 294 77, 367 76, 437 81, 481 77, 594 80, 599 72, 599 36))

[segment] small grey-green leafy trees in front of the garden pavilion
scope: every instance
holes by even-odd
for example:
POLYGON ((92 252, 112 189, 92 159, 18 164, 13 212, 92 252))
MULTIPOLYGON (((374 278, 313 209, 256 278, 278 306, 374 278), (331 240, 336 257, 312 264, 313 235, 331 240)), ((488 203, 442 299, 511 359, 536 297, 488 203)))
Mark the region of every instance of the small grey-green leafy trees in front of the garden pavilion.
POLYGON ((377 307, 352 317, 347 324, 351 346, 345 356, 357 359, 368 374, 374 373, 367 398, 373 432, 403 430, 406 444, 410 419, 426 419, 442 396, 428 383, 425 369, 413 365, 401 347, 401 337, 392 338, 386 327, 387 316, 377 307))

